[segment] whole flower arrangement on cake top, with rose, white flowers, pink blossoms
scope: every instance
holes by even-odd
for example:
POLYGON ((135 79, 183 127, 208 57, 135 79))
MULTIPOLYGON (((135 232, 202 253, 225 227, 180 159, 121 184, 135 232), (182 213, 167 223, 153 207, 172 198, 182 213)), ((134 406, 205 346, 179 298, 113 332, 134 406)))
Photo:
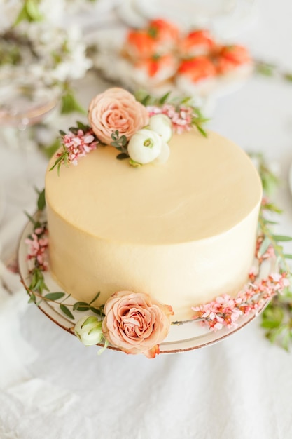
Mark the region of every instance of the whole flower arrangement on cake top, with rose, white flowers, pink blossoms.
POLYGON ((161 98, 140 92, 135 97, 123 88, 109 88, 92 99, 88 109, 90 125, 78 122, 69 133, 60 131, 62 151, 51 169, 62 164, 77 165, 98 144, 111 145, 117 158, 129 159, 132 166, 165 163, 169 157, 168 142, 172 133, 183 133, 192 126, 206 136, 202 124, 207 121, 192 99, 161 98))

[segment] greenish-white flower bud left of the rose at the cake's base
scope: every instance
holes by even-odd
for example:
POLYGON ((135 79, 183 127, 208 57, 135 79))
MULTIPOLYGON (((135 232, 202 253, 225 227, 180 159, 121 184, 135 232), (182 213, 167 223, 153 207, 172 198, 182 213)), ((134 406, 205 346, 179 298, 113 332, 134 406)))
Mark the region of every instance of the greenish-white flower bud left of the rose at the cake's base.
POLYGON ((74 327, 74 332, 85 346, 100 343, 104 337, 102 321, 95 316, 81 317, 74 327))

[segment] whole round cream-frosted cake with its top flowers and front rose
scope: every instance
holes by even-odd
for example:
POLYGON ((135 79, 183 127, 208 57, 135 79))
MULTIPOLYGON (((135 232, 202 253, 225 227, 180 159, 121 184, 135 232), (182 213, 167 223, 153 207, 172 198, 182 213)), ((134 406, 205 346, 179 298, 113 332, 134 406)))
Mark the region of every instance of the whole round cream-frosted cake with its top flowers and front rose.
POLYGON ((193 306, 235 297, 246 283, 260 178, 233 142, 202 135, 195 109, 183 101, 144 106, 112 88, 92 100, 88 116, 90 126, 62 133, 46 173, 50 271, 74 299, 88 303, 100 292, 95 305, 106 304, 107 342, 155 356, 165 320, 188 320, 193 306), (159 311, 155 325, 163 327, 153 326, 144 347, 135 345, 141 310, 129 304, 136 297, 151 302, 151 312, 159 311), (116 302, 123 302, 118 319, 127 317, 113 324, 116 302), (111 324, 134 334, 127 332, 130 347, 124 336, 117 341, 111 324))

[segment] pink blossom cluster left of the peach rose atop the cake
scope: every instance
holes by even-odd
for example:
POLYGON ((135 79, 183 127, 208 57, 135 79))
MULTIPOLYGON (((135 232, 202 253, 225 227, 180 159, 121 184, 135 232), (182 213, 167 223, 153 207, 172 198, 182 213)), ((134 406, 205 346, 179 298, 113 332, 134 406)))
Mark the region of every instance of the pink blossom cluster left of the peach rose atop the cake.
MULTIPOLYGON (((73 165, 77 165, 78 159, 84 157, 92 149, 96 149, 98 141, 93 135, 92 130, 84 133, 79 129, 76 134, 65 134, 62 138, 62 143, 66 149, 67 161, 73 165)), ((63 152, 59 152, 57 157, 63 156, 63 152)))

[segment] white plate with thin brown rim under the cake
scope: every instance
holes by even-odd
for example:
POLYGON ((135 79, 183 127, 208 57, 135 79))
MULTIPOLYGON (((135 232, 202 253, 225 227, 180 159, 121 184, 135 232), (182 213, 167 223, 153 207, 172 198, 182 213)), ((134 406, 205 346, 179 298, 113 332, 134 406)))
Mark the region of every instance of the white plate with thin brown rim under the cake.
MULTIPOLYGON (((22 283, 28 287, 30 284, 31 275, 29 274, 29 262, 27 261, 27 244, 25 243, 25 239, 29 234, 33 231, 32 222, 29 222, 25 227, 25 230, 22 233, 20 238, 20 244, 18 248, 18 266, 20 271, 20 277, 22 279, 22 283)), ((31 267, 32 268, 32 267, 31 267)), ((261 276, 266 277, 270 271, 274 268, 274 260, 268 259, 265 264, 262 264, 262 273, 261 276)), ((274 270, 273 270, 274 271, 274 270)), ((50 273, 50 269, 44 273, 46 285, 50 292, 60 292, 63 289, 60 285, 57 284, 52 274, 50 273)), ((75 302, 78 302, 78 299, 74 299, 74 297, 69 297, 66 301, 62 302, 63 304, 72 305, 75 302)), ((267 303, 265 304, 267 306, 267 303)), ((246 316, 241 316, 237 320, 237 327, 223 327, 221 330, 217 330, 214 332, 213 330, 209 330, 209 327, 202 326, 201 322, 195 320, 188 320, 188 322, 184 322, 181 325, 171 325, 169 330, 169 335, 165 339, 162 344, 160 344, 160 353, 178 353, 183 351, 190 351, 193 349, 199 349, 204 346, 209 346, 216 342, 221 342, 226 337, 234 334, 238 330, 242 329, 242 327, 246 326, 250 323, 258 314, 263 311, 265 308, 263 306, 262 309, 257 310, 256 312, 249 313, 246 316)), ((94 315, 91 311, 70 311, 74 315, 74 320, 71 320, 67 316, 62 313, 60 307, 55 304, 50 304, 46 301, 41 302, 39 304, 39 309, 53 321, 56 325, 62 327, 62 329, 70 332, 74 335, 74 325, 79 318, 85 315, 94 315)), ((118 350, 112 346, 109 346, 109 349, 118 350)))

